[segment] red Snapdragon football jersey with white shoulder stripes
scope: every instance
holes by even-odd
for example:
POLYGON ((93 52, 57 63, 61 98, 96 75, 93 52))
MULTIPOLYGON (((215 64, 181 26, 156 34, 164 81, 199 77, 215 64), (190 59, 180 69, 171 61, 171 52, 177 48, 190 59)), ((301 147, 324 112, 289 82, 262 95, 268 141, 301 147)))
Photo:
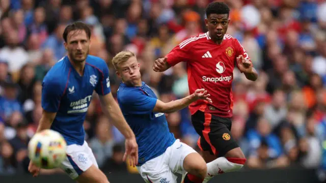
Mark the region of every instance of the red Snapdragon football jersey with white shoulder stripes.
POLYGON ((212 104, 198 100, 189 106, 191 114, 201 110, 221 117, 232 117, 232 81, 236 57, 250 60, 239 41, 225 35, 221 45, 213 42, 207 33, 191 37, 167 54, 167 62, 174 66, 186 62, 189 92, 205 88, 212 104))

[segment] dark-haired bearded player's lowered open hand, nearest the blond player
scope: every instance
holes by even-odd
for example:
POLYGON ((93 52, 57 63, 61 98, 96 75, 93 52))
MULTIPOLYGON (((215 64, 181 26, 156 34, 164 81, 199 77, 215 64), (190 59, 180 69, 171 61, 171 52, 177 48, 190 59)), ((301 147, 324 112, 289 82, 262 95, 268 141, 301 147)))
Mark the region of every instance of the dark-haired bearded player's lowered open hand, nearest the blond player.
POLYGON ((138 144, 135 137, 126 139, 125 142, 126 151, 123 156, 123 161, 129 159, 129 165, 135 167, 138 165, 138 144))

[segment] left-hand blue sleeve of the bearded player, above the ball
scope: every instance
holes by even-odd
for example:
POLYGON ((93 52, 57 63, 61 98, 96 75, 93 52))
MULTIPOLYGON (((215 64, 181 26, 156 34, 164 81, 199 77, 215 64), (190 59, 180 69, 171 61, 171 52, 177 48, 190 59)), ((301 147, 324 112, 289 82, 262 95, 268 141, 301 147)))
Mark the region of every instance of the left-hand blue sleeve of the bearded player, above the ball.
POLYGON ((57 112, 62 96, 61 85, 56 79, 44 80, 42 83, 42 108, 47 112, 57 112))

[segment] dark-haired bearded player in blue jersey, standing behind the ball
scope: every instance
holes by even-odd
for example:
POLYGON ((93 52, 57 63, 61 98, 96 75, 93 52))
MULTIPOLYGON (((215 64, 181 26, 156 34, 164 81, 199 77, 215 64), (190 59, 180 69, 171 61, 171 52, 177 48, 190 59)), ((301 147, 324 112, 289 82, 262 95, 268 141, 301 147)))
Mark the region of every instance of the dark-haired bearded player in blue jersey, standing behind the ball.
MULTIPOLYGON (((138 164, 135 135, 125 121, 110 89, 108 68, 104 60, 89 55, 90 28, 82 23, 69 24, 63 33, 68 55, 46 74, 42 83, 42 108, 37 132, 58 131, 67 142, 67 159, 61 168, 78 182, 108 182, 98 168, 92 149, 85 139, 83 123, 93 92, 99 95, 102 111, 126 138, 126 153, 131 165, 138 164)), ((30 172, 37 176, 39 168, 32 162, 30 172)))

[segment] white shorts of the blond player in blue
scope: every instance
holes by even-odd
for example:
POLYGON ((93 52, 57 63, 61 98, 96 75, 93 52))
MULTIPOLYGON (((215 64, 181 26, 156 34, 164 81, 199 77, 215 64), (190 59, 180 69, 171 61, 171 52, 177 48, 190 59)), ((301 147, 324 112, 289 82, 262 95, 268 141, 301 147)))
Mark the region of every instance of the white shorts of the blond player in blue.
POLYGON ((164 154, 147 161, 137 169, 148 183, 176 183, 175 173, 185 173, 183 160, 191 153, 197 153, 197 151, 177 139, 164 154))

